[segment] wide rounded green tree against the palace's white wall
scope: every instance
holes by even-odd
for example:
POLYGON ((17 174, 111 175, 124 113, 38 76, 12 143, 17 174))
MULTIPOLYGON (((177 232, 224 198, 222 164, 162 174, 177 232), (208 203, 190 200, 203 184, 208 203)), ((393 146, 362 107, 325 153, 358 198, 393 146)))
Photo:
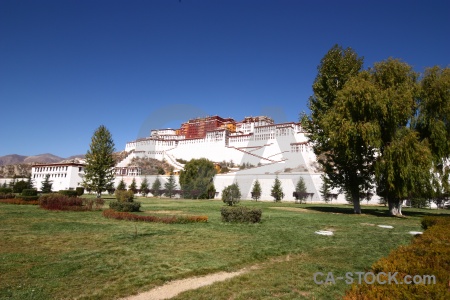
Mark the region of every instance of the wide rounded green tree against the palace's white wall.
POLYGON ((208 199, 208 187, 214 180, 216 168, 206 158, 191 159, 180 172, 180 186, 185 198, 208 199))

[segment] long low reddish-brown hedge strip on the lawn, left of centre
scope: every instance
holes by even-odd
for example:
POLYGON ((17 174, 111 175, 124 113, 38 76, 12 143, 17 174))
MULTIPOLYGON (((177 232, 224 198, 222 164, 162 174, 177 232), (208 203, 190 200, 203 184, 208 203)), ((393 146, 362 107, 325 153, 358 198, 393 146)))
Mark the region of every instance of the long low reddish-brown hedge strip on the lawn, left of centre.
POLYGON ((205 223, 208 222, 207 216, 143 216, 135 215, 129 212, 118 212, 112 209, 103 211, 103 216, 109 219, 141 221, 141 222, 158 222, 165 224, 184 224, 184 223, 205 223))

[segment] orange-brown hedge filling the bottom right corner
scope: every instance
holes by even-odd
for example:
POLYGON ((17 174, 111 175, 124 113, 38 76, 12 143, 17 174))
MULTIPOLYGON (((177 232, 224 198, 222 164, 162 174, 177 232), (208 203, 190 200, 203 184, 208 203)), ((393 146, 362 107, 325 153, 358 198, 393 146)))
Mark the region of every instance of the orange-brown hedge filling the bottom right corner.
POLYGON ((426 231, 410 245, 400 246, 372 266, 374 274, 397 272, 398 284, 380 276, 388 284, 353 285, 344 299, 450 299, 450 217, 425 217, 422 226, 426 231), (412 279, 405 278, 408 275, 435 276, 435 284, 406 284, 405 279, 412 279))

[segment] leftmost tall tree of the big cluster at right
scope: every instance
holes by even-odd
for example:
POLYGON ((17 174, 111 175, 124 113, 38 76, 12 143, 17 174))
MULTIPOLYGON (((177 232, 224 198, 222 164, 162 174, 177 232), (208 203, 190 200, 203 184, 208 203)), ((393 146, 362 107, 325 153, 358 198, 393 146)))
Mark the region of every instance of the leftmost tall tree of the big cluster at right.
MULTIPOLYGON (((360 73, 363 58, 351 49, 335 45, 322 58, 313 84, 314 95, 309 99, 311 115, 302 116, 302 125, 312 142, 319 164, 331 187, 340 187, 352 195, 354 212, 361 213, 360 191, 370 186, 370 162, 374 153, 370 144, 355 132, 356 124, 347 121, 346 108, 356 111, 357 119, 364 118, 364 108, 348 106, 338 99, 347 82, 360 73), (336 111, 337 107, 341 109, 336 111), (338 118, 338 119, 333 119, 338 118), (347 121, 345 124, 344 122, 347 121), (342 123, 342 124, 341 124, 342 123), (345 126, 343 130, 342 126, 345 126), (348 133, 349 136, 343 136, 348 133), (344 138, 344 139, 343 139, 344 138)), ((363 97, 358 101, 364 102, 363 97)), ((358 129, 358 127, 356 127, 358 129)))

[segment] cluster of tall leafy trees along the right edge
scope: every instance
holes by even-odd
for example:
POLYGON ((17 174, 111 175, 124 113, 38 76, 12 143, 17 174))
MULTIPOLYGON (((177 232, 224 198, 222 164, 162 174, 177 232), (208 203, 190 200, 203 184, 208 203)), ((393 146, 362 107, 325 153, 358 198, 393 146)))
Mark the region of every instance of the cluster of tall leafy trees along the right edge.
POLYGON ((450 69, 422 76, 389 58, 363 70, 363 58, 335 45, 323 57, 301 122, 327 183, 351 196, 376 189, 392 215, 411 197, 449 193, 450 69))

